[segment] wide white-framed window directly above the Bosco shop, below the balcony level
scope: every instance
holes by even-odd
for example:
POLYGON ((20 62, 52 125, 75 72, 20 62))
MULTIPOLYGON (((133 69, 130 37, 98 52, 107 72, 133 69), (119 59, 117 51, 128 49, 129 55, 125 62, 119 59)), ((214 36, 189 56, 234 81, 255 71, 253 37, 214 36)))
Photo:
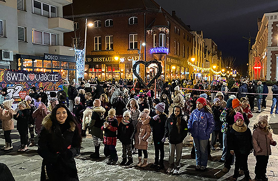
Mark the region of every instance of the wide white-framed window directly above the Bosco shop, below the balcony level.
POLYGON ((57 45, 57 35, 53 33, 33 30, 33 43, 43 45, 57 45))

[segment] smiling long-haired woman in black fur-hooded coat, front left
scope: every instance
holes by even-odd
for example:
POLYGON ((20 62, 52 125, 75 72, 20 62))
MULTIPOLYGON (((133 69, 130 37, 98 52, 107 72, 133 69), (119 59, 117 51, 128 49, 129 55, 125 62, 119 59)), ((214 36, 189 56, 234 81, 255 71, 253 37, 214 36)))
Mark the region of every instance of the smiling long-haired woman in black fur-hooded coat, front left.
POLYGON ((38 153, 42 160, 40 180, 78 181, 74 156, 79 153, 81 135, 68 108, 58 104, 42 121, 38 153), (46 173, 45 173, 46 170, 46 173))

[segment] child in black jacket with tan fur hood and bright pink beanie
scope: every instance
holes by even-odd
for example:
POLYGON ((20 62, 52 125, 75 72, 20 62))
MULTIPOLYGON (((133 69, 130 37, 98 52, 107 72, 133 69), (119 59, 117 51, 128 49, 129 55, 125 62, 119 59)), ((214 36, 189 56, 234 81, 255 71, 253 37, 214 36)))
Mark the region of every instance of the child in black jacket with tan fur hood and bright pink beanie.
POLYGON ((238 179, 239 167, 244 171, 244 178, 246 181, 251 181, 248 170, 248 155, 252 153, 252 134, 251 130, 243 121, 243 116, 240 112, 235 115, 235 123, 233 124, 230 134, 228 135, 228 147, 230 148, 230 153, 235 154, 235 172, 233 180, 238 179))

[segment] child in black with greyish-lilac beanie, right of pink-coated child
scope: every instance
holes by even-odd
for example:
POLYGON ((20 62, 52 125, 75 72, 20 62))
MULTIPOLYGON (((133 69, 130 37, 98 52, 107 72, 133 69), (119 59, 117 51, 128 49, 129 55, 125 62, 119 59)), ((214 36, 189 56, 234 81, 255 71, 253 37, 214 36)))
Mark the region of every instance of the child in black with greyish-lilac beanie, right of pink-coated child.
POLYGON ((154 116, 150 121, 150 126, 153 132, 153 140, 155 145, 155 163, 151 167, 158 170, 164 168, 164 142, 162 139, 165 132, 165 122, 168 116, 164 113, 165 104, 163 102, 155 106, 157 115, 154 116), (159 160, 159 151, 160 151, 160 160, 159 160))

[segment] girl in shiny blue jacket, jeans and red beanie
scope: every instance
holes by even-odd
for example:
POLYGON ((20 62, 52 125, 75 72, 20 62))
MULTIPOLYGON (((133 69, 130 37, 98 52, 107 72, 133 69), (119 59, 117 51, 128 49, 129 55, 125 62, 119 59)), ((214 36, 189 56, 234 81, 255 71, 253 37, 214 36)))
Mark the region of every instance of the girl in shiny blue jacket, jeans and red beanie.
POLYGON ((196 152, 196 170, 204 171, 207 167, 208 153, 207 144, 210 134, 214 130, 214 119, 212 110, 207 106, 204 98, 196 101, 195 109, 188 121, 188 131, 191 133, 196 152))

